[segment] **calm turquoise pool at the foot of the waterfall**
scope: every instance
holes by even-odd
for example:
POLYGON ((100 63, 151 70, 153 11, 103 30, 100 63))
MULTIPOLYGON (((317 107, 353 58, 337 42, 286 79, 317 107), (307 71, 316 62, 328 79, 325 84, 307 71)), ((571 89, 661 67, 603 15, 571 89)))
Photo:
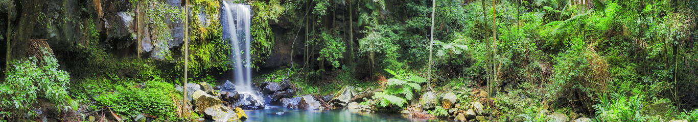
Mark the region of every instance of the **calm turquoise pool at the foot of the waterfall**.
MULTIPOLYGON (((279 108, 279 107, 277 107, 279 108)), ((355 110, 295 110, 295 109, 266 109, 253 110, 245 112, 249 119, 245 122, 349 122, 349 121, 439 121, 427 119, 413 119, 402 116, 401 114, 383 114, 383 113, 366 113, 356 112, 355 110), (288 112, 282 115, 275 114, 277 112, 288 112)))

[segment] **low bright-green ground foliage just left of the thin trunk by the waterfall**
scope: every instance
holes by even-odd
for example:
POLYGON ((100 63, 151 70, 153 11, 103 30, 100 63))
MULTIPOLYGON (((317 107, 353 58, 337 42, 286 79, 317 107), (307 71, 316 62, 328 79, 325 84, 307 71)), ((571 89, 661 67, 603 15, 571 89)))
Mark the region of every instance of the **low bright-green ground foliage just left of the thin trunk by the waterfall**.
MULTIPOLYGON (((111 107, 118 114, 135 117, 144 113, 176 121, 174 102, 181 101, 181 95, 173 91, 172 84, 150 80, 141 85, 140 88, 119 85, 114 87, 114 91, 100 94, 95 100, 98 105, 111 107)), ((92 107, 98 109, 101 106, 92 107)))

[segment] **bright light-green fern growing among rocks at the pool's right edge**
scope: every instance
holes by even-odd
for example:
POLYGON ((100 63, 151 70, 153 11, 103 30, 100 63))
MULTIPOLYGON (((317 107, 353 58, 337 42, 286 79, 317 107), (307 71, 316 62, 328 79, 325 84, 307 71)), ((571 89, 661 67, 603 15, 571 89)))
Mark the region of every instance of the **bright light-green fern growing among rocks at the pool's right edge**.
POLYGON ((387 80, 388 87, 383 92, 373 92, 374 99, 380 99, 380 106, 387 107, 388 105, 398 105, 402 107, 406 100, 412 100, 413 92, 421 90, 419 83, 426 82, 426 78, 416 76, 412 73, 396 73, 390 69, 385 69, 388 73, 395 76, 387 80), (397 96, 402 95, 405 99, 397 96))

